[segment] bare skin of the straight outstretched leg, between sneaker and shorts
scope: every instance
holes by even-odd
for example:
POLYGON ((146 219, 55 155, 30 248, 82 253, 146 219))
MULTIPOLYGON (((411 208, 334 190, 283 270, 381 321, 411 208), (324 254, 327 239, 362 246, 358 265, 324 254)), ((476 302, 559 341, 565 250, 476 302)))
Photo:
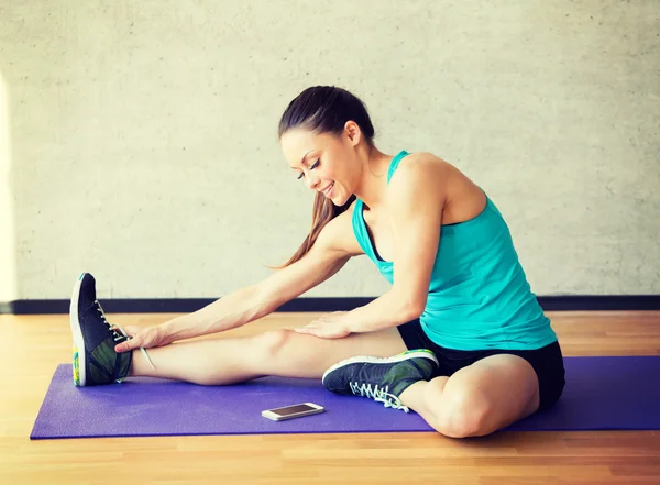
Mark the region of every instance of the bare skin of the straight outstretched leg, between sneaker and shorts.
POLYGON ((277 375, 320 378, 338 361, 355 355, 391 356, 405 352, 396 328, 320 339, 278 329, 261 335, 220 338, 148 349, 155 370, 133 351, 131 376, 151 376, 221 385, 277 375))

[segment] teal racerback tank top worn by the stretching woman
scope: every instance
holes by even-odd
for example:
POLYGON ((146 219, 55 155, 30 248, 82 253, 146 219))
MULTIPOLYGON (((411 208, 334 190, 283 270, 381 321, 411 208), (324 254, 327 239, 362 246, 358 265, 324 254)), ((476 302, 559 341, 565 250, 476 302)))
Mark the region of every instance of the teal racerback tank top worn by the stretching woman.
MULTIPOLYGON (((398 153, 387 183, 408 152, 398 153)), ((394 284, 392 262, 376 253, 358 199, 353 231, 364 253, 394 284)), ((427 305, 419 321, 436 344, 457 350, 531 350, 557 341, 520 266, 504 218, 486 196, 475 218, 443 224, 427 305)))

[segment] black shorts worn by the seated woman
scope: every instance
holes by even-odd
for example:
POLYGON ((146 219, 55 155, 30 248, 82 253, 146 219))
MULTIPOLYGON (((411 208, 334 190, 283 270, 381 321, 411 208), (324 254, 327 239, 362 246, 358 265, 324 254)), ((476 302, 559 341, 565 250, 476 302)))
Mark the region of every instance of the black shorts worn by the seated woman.
POLYGON ((561 348, 557 341, 536 350, 487 349, 463 351, 447 349, 433 343, 425 333, 419 320, 413 320, 399 326, 398 331, 408 350, 428 349, 436 354, 440 362, 438 376, 451 376, 458 370, 472 365, 476 361, 490 355, 513 354, 529 362, 537 374, 540 396, 539 411, 552 407, 563 392, 565 371, 561 348))

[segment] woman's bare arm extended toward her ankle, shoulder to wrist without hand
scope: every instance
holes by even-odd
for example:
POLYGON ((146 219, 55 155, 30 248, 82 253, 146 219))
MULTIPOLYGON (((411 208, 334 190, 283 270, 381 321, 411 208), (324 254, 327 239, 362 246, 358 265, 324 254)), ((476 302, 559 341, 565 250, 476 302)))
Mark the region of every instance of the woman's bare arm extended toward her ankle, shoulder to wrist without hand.
POLYGON ((362 252, 353 235, 351 217, 352 210, 348 210, 330 221, 300 261, 198 311, 163 323, 165 343, 241 327, 330 278, 351 256, 362 252))

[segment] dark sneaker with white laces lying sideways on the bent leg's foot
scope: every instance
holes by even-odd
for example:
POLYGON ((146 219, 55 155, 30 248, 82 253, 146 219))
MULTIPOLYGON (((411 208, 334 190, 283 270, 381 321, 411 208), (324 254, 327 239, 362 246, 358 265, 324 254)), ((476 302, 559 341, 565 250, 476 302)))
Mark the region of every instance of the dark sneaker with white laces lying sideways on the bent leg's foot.
POLYGON ((429 381, 439 365, 426 349, 385 359, 359 356, 334 364, 323 374, 322 383, 332 393, 371 397, 386 408, 408 412, 399 396, 411 384, 429 381))

